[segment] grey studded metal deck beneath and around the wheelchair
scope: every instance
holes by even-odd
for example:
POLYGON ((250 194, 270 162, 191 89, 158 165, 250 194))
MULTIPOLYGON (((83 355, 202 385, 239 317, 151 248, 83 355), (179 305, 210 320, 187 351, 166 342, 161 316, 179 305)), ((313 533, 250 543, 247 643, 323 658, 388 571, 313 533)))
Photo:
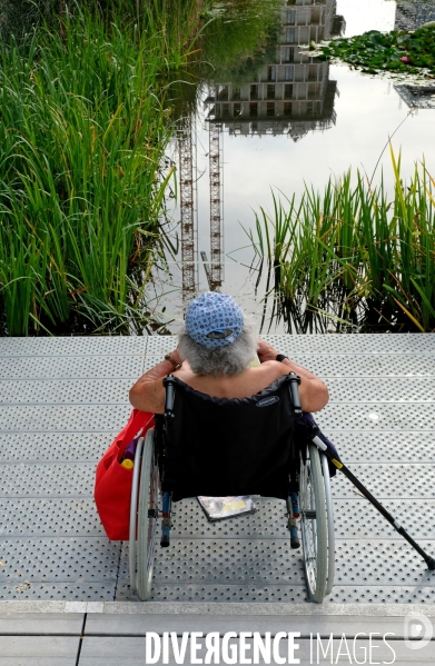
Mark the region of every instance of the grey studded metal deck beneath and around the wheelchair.
MULTIPOLYGON (((423 547, 435 551, 435 336, 271 336, 328 385, 317 415, 343 459, 423 547)), ((128 389, 175 338, 0 340, 0 597, 137 600, 128 546, 93 507, 96 463, 126 423, 128 389)), ((330 603, 435 603, 435 576, 339 475, 330 603)), ((178 503, 157 548, 155 602, 304 602, 284 503, 207 524, 178 503)))

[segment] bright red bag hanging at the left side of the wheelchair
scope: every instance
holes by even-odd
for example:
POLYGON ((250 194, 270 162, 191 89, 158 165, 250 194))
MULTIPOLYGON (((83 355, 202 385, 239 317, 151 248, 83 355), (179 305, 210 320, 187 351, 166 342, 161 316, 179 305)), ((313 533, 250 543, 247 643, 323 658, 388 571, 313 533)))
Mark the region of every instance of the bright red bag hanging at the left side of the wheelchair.
POLYGON ((129 538, 134 470, 122 467, 120 459, 140 428, 144 428, 144 437, 154 425, 154 414, 134 409, 127 426, 117 435, 98 463, 93 497, 102 526, 111 540, 123 541, 129 538))

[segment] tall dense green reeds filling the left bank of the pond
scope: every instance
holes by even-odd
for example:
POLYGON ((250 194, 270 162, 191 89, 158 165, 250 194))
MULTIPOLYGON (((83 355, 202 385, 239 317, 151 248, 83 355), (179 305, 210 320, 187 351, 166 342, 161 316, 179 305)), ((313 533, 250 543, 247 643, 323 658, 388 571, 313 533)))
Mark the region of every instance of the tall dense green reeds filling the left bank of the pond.
POLYGON ((59 30, 0 48, 7 335, 146 321, 139 304, 171 178, 160 168, 171 130, 159 76, 186 41, 147 7, 139 23, 76 8, 59 30))

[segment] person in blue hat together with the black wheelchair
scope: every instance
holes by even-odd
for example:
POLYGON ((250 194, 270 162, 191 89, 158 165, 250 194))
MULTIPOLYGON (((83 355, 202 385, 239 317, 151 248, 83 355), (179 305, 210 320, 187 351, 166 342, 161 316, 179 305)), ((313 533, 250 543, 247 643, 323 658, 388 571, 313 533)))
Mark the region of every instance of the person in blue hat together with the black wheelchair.
POLYGON ((156 415, 130 513, 130 585, 141 599, 150 595, 159 515, 160 545, 170 543, 172 501, 260 495, 286 503, 291 548, 300 547, 300 516, 308 593, 323 600, 334 579, 329 474, 297 421, 328 397, 318 377, 255 335, 231 296, 206 291, 190 302, 177 348, 130 389, 132 406, 156 415))

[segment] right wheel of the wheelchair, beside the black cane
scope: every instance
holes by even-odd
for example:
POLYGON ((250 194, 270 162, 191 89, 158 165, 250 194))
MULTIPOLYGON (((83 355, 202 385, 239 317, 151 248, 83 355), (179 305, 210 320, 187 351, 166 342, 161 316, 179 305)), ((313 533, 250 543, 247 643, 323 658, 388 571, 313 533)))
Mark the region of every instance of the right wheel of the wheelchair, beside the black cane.
POLYGON ((322 604, 328 579, 328 528, 325 485, 318 448, 307 446, 307 459, 300 460, 300 530, 308 595, 322 604))

